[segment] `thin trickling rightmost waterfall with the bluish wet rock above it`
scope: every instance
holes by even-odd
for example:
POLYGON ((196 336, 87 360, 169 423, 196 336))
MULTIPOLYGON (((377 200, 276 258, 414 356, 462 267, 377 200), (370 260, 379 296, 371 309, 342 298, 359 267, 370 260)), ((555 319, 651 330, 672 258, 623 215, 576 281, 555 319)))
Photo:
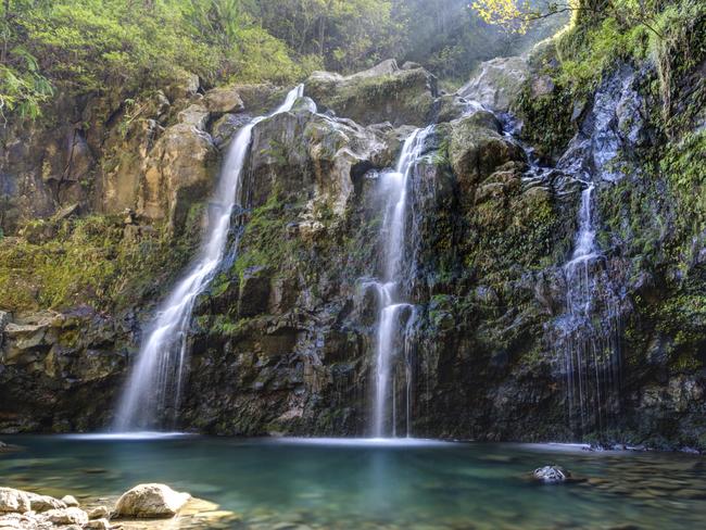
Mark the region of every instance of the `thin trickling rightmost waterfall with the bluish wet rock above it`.
POLYGON ((635 73, 622 65, 596 90, 579 131, 557 168, 583 187, 573 252, 562 268, 564 314, 555 320, 554 345, 565 378, 571 432, 604 434, 619 418, 622 317, 630 311, 623 270, 603 253, 598 234, 602 188, 639 173, 632 153, 644 135, 635 73))

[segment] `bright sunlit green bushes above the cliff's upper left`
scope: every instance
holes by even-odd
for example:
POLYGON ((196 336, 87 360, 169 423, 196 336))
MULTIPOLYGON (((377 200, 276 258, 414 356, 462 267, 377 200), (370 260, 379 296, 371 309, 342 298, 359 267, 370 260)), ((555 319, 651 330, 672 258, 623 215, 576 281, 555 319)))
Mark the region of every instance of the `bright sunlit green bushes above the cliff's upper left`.
MULTIPOLYGON (((2 8, 0 105, 36 117, 61 87, 74 94, 150 88, 184 70, 206 84, 305 74, 286 43, 243 12, 240 0, 10 1, 2 8)), ((303 61, 312 67, 311 61, 303 61)))

